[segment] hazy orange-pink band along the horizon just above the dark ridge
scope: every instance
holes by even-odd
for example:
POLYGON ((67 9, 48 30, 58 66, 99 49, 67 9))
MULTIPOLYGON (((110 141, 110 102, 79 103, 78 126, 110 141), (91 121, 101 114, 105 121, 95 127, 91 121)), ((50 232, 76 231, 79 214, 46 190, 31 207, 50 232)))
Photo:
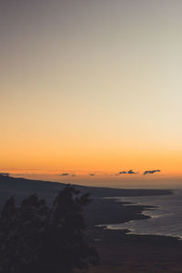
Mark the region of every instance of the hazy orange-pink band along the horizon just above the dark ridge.
POLYGON ((90 187, 116 187, 116 188, 168 188, 168 189, 181 189, 181 177, 168 177, 161 176, 160 178, 148 176, 144 177, 141 174, 137 177, 119 177, 114 173, 105 174, 96 173, 95 176, 89 174, 62 176, 60 173, 9 173, 11 177, 21 177, 33 180, 44 180, 50 182, 59 182, 66 184, 76 184, 90 187))

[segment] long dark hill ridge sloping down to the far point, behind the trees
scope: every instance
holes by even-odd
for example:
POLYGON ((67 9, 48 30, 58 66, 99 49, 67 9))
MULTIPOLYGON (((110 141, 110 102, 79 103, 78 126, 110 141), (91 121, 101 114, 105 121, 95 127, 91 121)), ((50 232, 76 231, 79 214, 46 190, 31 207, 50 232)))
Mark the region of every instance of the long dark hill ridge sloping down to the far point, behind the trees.
MULTIPOLYGON (((30 180, 19 177, 10 177, 0 174, 0 206, 5 203, 7 197, 15 196, 19 201, 23 197, 34 193, 38 197, 45 197, 52 201, 57 192, 66 184, 41 180, 30 180)), ((75 185, 81 193, 89 192, 91 197, 138 197, 138 196, 160 196, 171 195, 171 190, 167 189, 123 189, 109 187, 85 187, 75 185)))

